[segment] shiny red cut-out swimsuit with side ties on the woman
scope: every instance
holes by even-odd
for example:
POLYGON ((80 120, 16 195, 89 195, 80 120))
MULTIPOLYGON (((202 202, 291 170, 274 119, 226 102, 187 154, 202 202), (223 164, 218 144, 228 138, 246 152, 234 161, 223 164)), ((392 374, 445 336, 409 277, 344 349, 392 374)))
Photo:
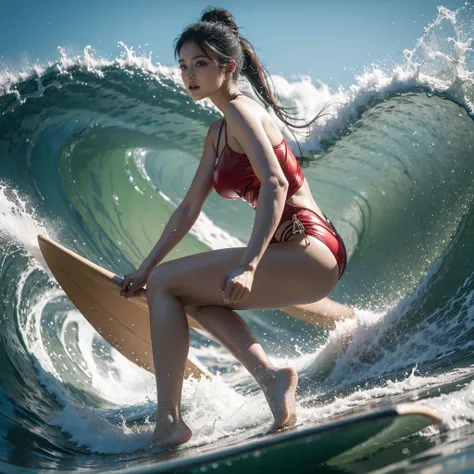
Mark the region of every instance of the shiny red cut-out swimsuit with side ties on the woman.
MULTIPOLYGON (((225 146, 222 156, 216 158, 217 162, 214 165, 214 188, 223 198, 242 199, 255 209, 260 192, 260 181, 255 175, 247 155, 237 153, 227 143, 227 123, 225 120, 222 122, 219 130, 217 150, 219 150, 219 141, 224 124, 226 125, 225 146)), ((286 196, 288 200, 303 185, 303 171, 285 139, 279 145, 274 146, 273 150, 289 183, 286 196)), ((291 223, 283 230, 280 241, 286 242, 292 234, 296 233, 316 237, 326 244, 336 257, 340 278, 346 266, 346 249, 341 236, 337 233, 331 221, 326 216, 323 219, 311 209, 296 207, 288 202, 285 203, 278 226, 285 221, 291 221, 291 223)), ((273 236, 270 244, 277 242, 278 240, 273 236)))

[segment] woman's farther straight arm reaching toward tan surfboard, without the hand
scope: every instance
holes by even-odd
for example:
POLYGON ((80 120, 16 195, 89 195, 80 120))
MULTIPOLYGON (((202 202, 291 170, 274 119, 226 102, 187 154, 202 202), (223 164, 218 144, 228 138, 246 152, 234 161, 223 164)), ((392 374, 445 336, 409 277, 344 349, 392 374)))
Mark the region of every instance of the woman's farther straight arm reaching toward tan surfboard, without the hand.
POLYGON ((140 265, 151 271, 181 241, 199 217, 202 206, 213 189, 215 149, 212 142, 217 122, 209 127, 204 150, 196 174, 185 198, 171 215, 160 239, 140 265))

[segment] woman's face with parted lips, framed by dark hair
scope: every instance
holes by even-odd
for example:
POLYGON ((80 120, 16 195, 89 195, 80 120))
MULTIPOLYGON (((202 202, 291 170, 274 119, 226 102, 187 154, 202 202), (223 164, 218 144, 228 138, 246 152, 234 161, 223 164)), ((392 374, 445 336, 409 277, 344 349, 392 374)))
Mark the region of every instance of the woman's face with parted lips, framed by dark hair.
POLYGON ((184 43, 179 52, 181 79, 193 100, 208 97, 224 83, 225 76, 217 62, 217 55, 214 51, 208 51, 208 55, 212 59, 192 41, 184 43))

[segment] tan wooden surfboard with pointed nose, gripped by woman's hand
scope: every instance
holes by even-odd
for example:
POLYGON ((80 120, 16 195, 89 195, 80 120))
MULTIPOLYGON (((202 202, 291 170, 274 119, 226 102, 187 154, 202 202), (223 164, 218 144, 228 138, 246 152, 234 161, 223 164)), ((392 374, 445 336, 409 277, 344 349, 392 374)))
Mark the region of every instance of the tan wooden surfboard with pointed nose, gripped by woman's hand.
MULTIPOLYGON (((150 315, 146 290, 137 296, 120 296, 123 278, 38 235, 41 253, 62 289, 99 334, 127 359, 154 373, 150 315)), ((188 318, 191 327, 200 326, 188 318)), ((185 377, 210 378, 211 374, 191 355, 185 377)))

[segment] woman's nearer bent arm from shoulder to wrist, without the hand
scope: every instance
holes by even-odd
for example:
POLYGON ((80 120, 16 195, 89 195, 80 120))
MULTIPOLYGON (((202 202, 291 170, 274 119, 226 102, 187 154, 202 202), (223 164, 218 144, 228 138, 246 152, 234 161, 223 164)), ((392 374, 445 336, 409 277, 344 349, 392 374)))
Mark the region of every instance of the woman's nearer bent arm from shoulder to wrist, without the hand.
POLYGON ((228 104, 225 112, 261 183, 252 235, 239 265, 255 270, 280 222, 288 181, 260 119, 236 102, 228 104))

